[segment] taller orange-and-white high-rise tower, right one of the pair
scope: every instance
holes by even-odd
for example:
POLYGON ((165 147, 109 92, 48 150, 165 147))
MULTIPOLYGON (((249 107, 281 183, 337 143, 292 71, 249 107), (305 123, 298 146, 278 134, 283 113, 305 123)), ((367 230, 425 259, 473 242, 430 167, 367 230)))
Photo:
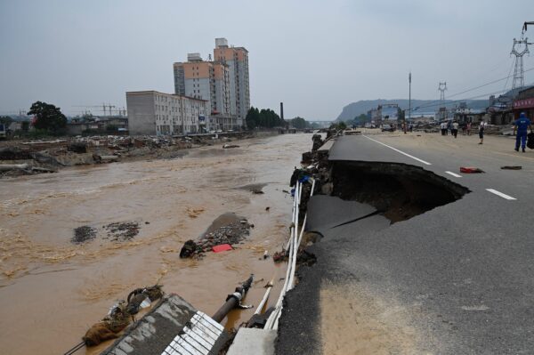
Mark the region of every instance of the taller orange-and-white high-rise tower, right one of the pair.
POLYGON ((243 125, 250 109, 248 80, 248 51, 244 47, 228 45, 226 38, 215 38, 214 61, 228 66, 230 72, 230 112, 243 125))

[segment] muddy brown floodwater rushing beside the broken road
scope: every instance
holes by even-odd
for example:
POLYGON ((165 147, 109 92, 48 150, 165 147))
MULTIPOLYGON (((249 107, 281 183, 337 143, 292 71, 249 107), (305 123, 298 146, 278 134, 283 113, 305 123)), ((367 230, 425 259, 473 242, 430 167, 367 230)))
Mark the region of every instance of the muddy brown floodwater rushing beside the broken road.
MULTIPOLYGON (((262 256, 287 240, 291 198, 283 190, 289 190, 301 153, 312 147, 312 134, 239 145, 190 149, 172 160, 2 180, 0 353, 63 353, 113 303, 136 287, 156 283, 213 314, 250 273, 256 282, 246 303, 252 304, 259 303, 263 285, 274 276, 270 301, 275 303, 286 265, 262 256), (253 193, 250 186, 264 193, 253 193), (179 258, 186 240, 198 238, 228 212, 255 224, 237 249, 206 253, 202 260, 179 258), (132 223, 126 225, 138 228, 138 234, 109 238, 109 225, 120 225, 112 223, 132 223), (92 234, 76 244, 72 239, 79 227, 92 234)), ((224 325, 237 327, 253 312, 232 311, 224 325)))

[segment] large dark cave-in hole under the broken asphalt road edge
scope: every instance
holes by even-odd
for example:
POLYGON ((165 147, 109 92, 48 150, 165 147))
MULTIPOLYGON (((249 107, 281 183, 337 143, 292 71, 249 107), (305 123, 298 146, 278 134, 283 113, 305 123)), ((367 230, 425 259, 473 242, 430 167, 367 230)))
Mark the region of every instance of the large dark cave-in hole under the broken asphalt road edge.
POLYGON ((424 214, 470 192, 419 166, 346 161, 331 163, 332 195, 375 206, 392 222, 424 214))

